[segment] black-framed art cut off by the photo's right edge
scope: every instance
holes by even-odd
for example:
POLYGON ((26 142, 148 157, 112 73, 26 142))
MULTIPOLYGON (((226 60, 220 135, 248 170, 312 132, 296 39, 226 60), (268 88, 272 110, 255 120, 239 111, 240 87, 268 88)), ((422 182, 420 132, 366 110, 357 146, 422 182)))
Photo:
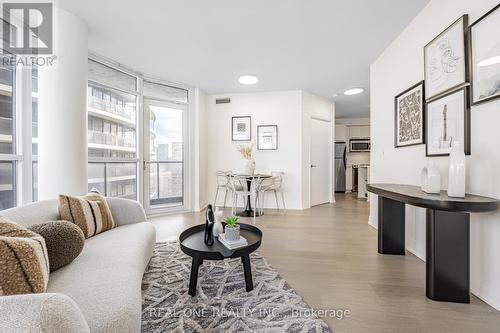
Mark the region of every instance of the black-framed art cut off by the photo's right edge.
POLYGON ((500 4, 470 26, 472 104, 500 97, 500 4))

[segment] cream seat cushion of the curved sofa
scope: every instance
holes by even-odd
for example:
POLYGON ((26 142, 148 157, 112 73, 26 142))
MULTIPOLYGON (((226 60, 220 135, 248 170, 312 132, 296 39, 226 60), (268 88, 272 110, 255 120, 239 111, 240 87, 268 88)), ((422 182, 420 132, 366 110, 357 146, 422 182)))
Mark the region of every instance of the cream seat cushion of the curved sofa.
POLYGON ((141 284, 155 245, 149 222, 100 233, 82 253, 50 275, 47 290, 71 297, 92 332, 139 332, 141 284))

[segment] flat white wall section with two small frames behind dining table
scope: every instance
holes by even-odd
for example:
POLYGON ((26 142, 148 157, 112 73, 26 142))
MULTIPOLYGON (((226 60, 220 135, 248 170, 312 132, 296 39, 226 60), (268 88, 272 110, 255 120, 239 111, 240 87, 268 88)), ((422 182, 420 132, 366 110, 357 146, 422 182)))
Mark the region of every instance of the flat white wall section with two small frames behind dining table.
MULTIPOLYGON (((227 94, 207 96, 207 196, 213 202, 217 170, 243 170, 243 161, 236 150, 240 144, 231 140, 231 117, 252 117, 252 141, 256 144, 257 125, 278 125, 278 150, 257 150, 256 172, 285 172, 284 195, 287 208, 301 209, 301 92, 227 94), (215 104, 215 99, 230 97, 231 104, 215 104)), ((223 196, 223 194, 222 194, 223 196)), ((271 196, 265 207, 276 207, 271 196)), ((222 204, 221 195, 218 199, 222 204)), ((230 198, 227 205, 231 205, 230 198)), ((241 202, 240 202, 241 206, 241 202)))

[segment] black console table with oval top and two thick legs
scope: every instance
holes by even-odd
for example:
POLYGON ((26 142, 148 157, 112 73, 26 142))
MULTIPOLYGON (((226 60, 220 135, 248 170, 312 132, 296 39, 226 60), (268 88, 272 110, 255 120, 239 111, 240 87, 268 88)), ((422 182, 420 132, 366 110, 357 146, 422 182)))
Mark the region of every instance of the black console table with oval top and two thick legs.
POLYGON ((428 194, 411 185, 370 184, 367 190, 378 195, 378 252, 405 255, 405 204, 426 208, 427 297, 469 303, 470 213, 494 211, 499 200, 428 194))

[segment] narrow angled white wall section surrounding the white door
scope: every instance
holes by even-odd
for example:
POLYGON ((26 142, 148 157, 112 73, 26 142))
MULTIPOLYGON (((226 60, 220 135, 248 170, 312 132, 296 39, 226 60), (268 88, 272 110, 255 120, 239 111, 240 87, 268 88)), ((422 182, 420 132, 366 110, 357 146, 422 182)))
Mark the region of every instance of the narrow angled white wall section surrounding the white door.
POLYGON ((326 98, 302 92, 302 207, 311 207, 311 119, 327 120, 331 124, 330 142, 330 202, 334 202, 333 194, 335 173, 333 172, 333 141, 335 138, 335 104, 326 98))

